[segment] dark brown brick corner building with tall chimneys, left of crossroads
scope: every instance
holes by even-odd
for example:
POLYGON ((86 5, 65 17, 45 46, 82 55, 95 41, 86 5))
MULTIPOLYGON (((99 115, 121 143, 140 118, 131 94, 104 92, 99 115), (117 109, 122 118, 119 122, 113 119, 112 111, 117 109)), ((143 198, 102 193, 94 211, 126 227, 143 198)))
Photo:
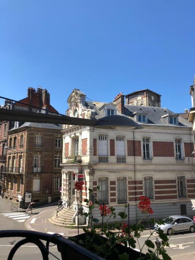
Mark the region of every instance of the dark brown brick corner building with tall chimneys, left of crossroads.
MULTIPOLYGON (((50 105, 46 89, 28 88, 27 97, 20 100, 29 105, 57 112, 50 105)), ((10 109, 50 113, 20 103, 12 103, 10 109)), ((6 176, 4 198, 36 204, 56 201, 60 198, 62 126, 57 124, 7 122, 6 164, 1 169, 6 176), (47 190, 47 193, 46 193, 47 190), (27 198, 28 197, 28 198, 27 198)))

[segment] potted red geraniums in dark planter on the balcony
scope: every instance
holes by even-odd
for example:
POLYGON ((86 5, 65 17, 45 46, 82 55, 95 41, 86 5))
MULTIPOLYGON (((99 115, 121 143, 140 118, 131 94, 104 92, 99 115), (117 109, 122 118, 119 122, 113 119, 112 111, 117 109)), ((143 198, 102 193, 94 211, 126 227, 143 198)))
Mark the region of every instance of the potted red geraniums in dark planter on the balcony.
MULTIPOLYGON (((82 189, 82 184, 75 183, 75 189, 82 189)), ((93 190, 89 190, 89 197, 91 198, 93 190)), ((97 191, 99 186, 97 186, 97 191)), ((154 243, 150 240, 151 235, 146 239, 144 245, 148 247, 146 254, 142 253, 144 245, 141 247, 139 244, 139 237, 145 230, 142 220, 138 224, 129 225, 124 220, 129 217, 129 206, 125 205, 122 212, 118 213, 120 216, 120 222, 114 222, 109 224, 111 218, 116 218, 116 212, 114 207, 107 207, 105 204, 99 205, 98 201, 95 200, 94 204, 99 205, 99 211, 102 216, 102 223, 98 224, 99 220, 93 218, 92 209, 94 205, 91 200, 85 199, 86 205, 88 206, 88 212, 84 215, 87 219, 88 226, 83 228, 84 234, 77 235, 75 237, 69 237, 70 240, 90 250, 95 255, 102 257, 103 259, 159 259, 157 255, 162 255, 164 260, 170 260, 171 258, 167 255, 165 246, 169 246, 168 237, 159 229, 159 237, 162 239, 162 246, 155 248, 154 243), (128 215, 126 210, 128 208, 128 215), (135 240, 136 239, 136 240, 135 240), (134 250, 136 243, 140 248, 140 252, 134 250)), ((140 196, 138 208, 141 209, 141 213, 145 215, 144 220, 148 218, 148 215, 153 213, 151 208, 150 200, 146 196, 140 196)), ((163 220, 155 222, 154 219, 150 220, 152 224, 164 224, 163 220)), ((148 223, 149 226, 149 223, 148 223)))

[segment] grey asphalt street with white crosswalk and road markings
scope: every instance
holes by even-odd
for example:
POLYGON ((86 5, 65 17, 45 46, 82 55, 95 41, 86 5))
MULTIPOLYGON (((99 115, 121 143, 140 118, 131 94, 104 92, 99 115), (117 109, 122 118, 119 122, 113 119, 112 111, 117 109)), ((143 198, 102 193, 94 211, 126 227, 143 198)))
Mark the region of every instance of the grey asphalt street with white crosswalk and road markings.
MULTIPOLYGON (((6 205, 9 206, 8 201, 0 199, 0 209, 5 209, 6 205), (1 207, 2 206, 2 207, 1 207)), ((10 207, 8 207, 10 209, 10 207)), ((48 218, 50 218, 55 213, 56 205, 46 205, 41 208, 33 209, 33 214, 27 216, 25 218, 24 212, 13 212, 9 211, 0 213, 0 223, 1 228, 10 229, 10 230, 31 230, 31 231, 39 231, 44 233, 59 233, 63 237, 70 237, 77 235, 76 229, 66 229, 58 226, 54 226, 48 222, 48 218), (19 219, 18 219, 19 218, 19 219), (22 220, 22 221, 20 221, 22 220), (23 221, 24 220, 24 221, 23 221)), ((151 230, 153 231, 153 230, 151 230)), ((83 233, 82 230, 79 230, 79 233, 83 233)), ((150 231, 145 230, 141 237, 139 238, 140 247, 143 246, 145 240, 149 237, 150 231)), ((157 233, 154 233, 153 236, 150 237, 155 243, 156 237, 159 239, 157 233)), ((1 260, 6 260, 11 248, 21 240, 21 238, 0 238, 0 252, 1 252, 1 260)), ((136 240, 136 239, 135 239, 136 240)), ((160 239, 159 239, 160 240, 160 239)), ((45 243, 44 243, 45 244, 45 243)), ((172 259, 177 260, 195 260, 195 233, 184 232, 179 233, 177 235, 172 235, 169 239, 170 248, 166 248, 168 255, 172 259)), ((139 249, 138 242, 136 241, 136 249, 139 249)), ((144 253, 147 252, 147 247, 144 246, 144 253)), ((50 247, 50 252, 61 259, 60 253, 57 251, 57 246, 50 247)), ((162 258, 162 257, 160 257, 162 258)), ((34 244, 25 244, 21 246, 16 254, 14 255, 14 260, 25 260, 25 259, 42 259, 42 255, 38 247, 34 244)), ((49 259, 56 259, 54 256, 49 254, 49 259)))

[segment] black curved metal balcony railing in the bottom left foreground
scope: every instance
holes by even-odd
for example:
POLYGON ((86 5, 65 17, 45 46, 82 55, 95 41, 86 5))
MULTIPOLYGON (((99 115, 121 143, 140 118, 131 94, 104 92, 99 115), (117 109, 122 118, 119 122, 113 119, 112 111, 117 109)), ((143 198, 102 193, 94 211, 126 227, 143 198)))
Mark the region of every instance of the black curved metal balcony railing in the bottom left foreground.
MULTIPOLYGON (((49 252, 49 244, 56 244, 57 250, 61 254, 61 259, 77 259, 77 260, 89 260, 89 259, 98 259, 103 260, 103 258, 95 255, 94 253, 90 252, 86 248, 79 246, 75 242, 62 237, 60 234, 47 234, 47 233, 41 233, 36 231, 28 231, 28 230, 2 230, 0 231, 0 238, 1 237, 23 237, 24 239, 17 242, 13 248, 10 250, 10 253, 8 255, 8 260, 12 260, 14 257, 14 254, 16 253, 17 249, 20 248, 20 246, 27 244, 27 243, 33 243, 38 246, 38 248, 41 251, 43 260, 49 260, 49 254, 55 255, 51 252, 49 252), (46 242, 46 245, 41 241, 44 240, 46 242)), ((59 259, 55 257, 56 259, 59 259)))

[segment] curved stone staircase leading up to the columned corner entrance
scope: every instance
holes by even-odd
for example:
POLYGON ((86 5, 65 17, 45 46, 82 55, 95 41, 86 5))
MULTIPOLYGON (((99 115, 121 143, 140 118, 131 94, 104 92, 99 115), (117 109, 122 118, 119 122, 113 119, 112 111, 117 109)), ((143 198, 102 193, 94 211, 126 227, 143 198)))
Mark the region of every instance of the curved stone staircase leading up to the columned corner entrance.
MULTIPOLYGON (((65 227, 65 228, 78 228, 77 223, 72 223, 72 217, 75 213, 75 210, 73 209, 72 206, 70 208, 63 207, 61 211, 59 211, 54 216, 48 219, 48 221, 55 225, 55 226, 60 226, 60 227, 65 227)), ((79 225, 79 228, 86 227, 87 225, 79 225)))

